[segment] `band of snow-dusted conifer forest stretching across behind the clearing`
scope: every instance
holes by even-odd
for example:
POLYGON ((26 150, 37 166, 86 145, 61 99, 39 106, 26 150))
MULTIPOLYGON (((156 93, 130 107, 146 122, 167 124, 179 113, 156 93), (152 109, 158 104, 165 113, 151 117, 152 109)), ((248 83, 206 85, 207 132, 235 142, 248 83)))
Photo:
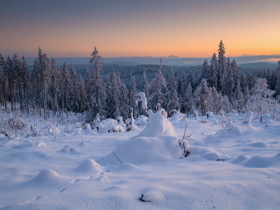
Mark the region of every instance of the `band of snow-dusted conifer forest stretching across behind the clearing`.
POLYGON ((187 115, 195 110, 204 115, 207 111, 217 114, 220 109, 279 113, 280 61, 276 71, 249 71, 240 76, 235 60, 225 57, 222 41, 218 45, 218 56, 213 53, 211 61, 205 60, 201 66, 180 67, 180 71, 173 67, 174 71, 172 67, 163 66, 161 60, 160 65, 146 65, 150 69, 157 68, 151 82, 147 77, 147 73, 152 72, 149 68, 147 72, 142 71, 142 78, 135 78, 131 71, 121 75, 114 70, 115 65, 108 65, 105 74, 98 54, 95 47, 89 61, 91 67, 84 76, 76 73, 74 65, 71 68, 65 62, 57 65, 54 57, 49 59, 41 48, 31 71, 24 56, 20 59, 15 54, 5 61, 0 54, 1 105, 5 109, 10 106, 13 111, 18 103, 22 113, 29 115, 29 110, 33 114, 37 111, 45 120, 50 116, 56 115, 59 119, 77 113, 82 113, 87 122, 97 114, 102 118, 127 119, 131 108, 135 118, 146 115, 136 97, 141 91, 146 95, 149 109, 155 111, 160 104, 170 115, 174 109, 187 115), (169 71, 166 76, 162 69, 165 73, 169 71), (130 77, 129 85, 125 85, 121 76, 130 77))

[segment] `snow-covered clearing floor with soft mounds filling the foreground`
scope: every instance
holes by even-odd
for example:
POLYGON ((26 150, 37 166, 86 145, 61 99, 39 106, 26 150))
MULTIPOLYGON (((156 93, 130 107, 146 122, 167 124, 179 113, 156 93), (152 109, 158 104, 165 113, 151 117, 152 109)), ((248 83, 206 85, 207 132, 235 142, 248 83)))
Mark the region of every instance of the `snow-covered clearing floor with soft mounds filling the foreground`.
POLYGON ((279 209, 280 122, 229 118, 223 129, 220 116, 188 118, 186 135, 198 128, 181 159, 185 120, 171 122, 179 139, 132 138, 147 123, 118 133, 57 125, 56 138, 19 133, 0 141, 0 209, 279 209))

